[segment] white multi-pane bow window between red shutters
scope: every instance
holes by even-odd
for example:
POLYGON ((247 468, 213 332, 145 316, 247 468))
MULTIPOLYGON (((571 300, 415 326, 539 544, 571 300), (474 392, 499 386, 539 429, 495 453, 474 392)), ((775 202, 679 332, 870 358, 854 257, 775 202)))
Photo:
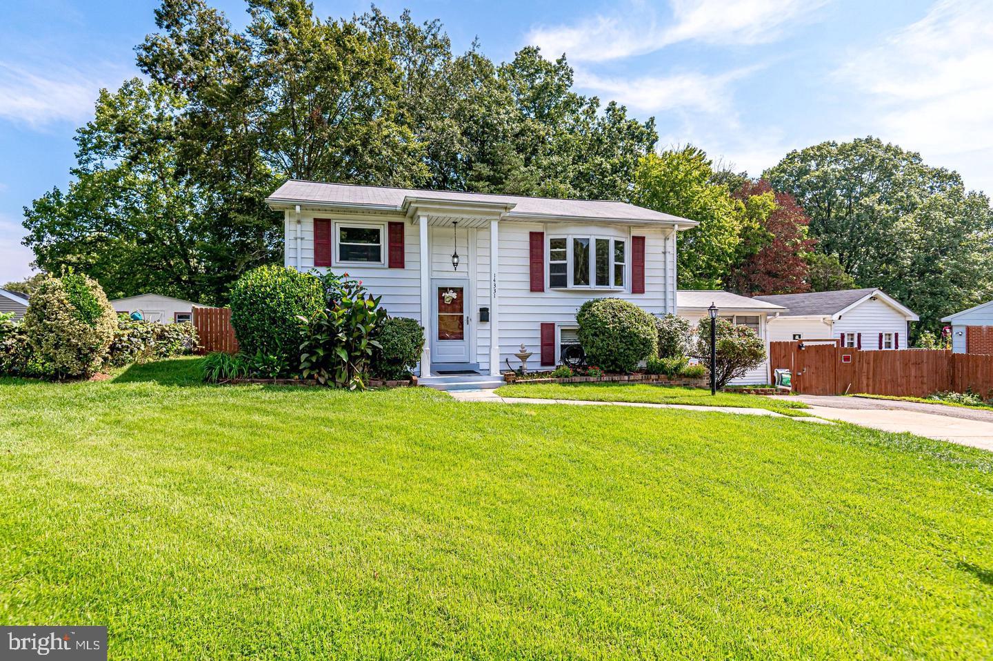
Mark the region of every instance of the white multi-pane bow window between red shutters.
POLYGON ((610 237, 550 237, 548 284, 553 289, 623 289, 628 242, 610 237))

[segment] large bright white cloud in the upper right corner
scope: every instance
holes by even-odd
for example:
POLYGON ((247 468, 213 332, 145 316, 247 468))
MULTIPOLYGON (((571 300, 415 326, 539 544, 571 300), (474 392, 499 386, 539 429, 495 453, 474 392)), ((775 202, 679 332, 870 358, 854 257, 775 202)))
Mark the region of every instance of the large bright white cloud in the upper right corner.
POLYGON ((880 137, 993 192, 993 4, 938 2, 838 74, 868 95, 880 137))

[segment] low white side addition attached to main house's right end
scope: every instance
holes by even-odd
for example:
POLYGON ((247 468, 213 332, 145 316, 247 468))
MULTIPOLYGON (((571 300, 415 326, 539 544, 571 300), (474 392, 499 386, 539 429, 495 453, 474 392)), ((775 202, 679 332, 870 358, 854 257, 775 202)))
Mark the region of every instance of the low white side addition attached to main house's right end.
POLYGON ((702 317, 710 316, 711 304, 717 307, 717 316, 738 326, 748 326, 766 344, 767 359, 762 365, 750 370, 744 377, 734 379, 732 384, 765 384, 769 382, 769 318, 781 313, 785 308, 756 298, 739 296, 729 291, 680 289, 676 292, 676 309, 680 317, 696 323, 702 317))

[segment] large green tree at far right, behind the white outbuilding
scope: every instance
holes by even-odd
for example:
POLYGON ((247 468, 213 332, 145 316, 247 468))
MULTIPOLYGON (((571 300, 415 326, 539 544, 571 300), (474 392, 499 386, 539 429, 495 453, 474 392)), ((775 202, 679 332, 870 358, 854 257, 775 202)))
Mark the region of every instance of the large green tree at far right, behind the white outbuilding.
POLYGON ((765 176, 810 216, 818 251, 917 311, 919 329, 993 294, 993 210, 958 173, 867 137, 790 152, 765 176))

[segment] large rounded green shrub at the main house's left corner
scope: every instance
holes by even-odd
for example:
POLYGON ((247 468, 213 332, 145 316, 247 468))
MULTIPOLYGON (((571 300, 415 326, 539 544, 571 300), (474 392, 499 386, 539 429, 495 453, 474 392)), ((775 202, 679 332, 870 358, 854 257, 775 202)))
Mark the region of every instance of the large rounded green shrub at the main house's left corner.
POLYGON ((304 329, 298 317, 311 318, 324 307, 320 278, 285 266, 253 268, 231 287, 231 326, 241 351, 249 356, 281 356, 296 365, 304 329))

